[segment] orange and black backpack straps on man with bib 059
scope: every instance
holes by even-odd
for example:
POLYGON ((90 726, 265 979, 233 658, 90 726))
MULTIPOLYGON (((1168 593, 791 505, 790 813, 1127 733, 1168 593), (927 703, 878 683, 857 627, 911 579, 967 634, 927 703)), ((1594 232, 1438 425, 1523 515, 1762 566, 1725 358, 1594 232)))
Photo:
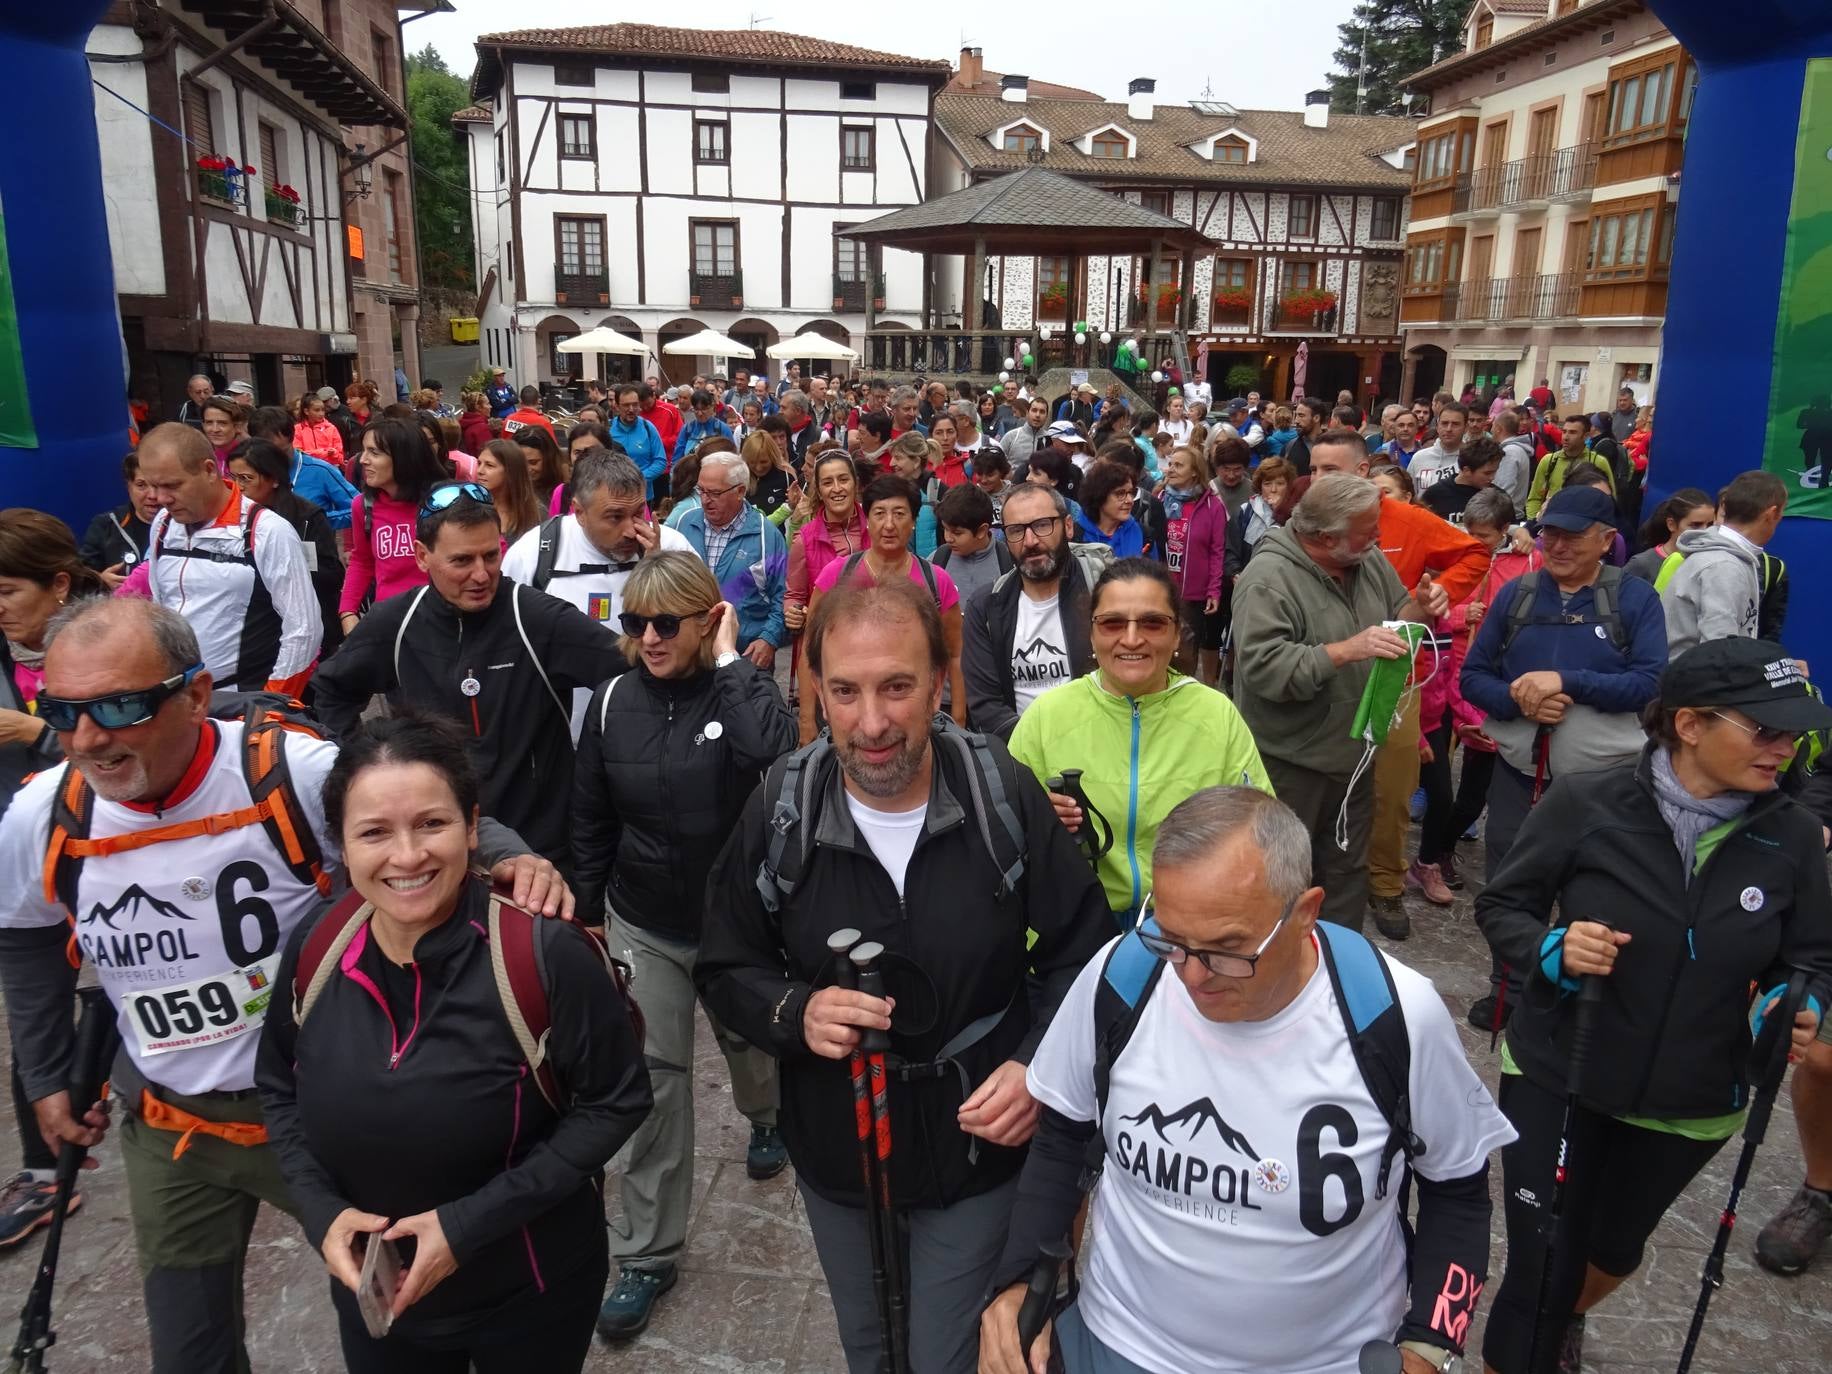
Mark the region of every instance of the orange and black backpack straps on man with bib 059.
POLYGON ((300 702, 278 692, 214 692, 211 696, 211 720, 242 722, 242 777, 247 780, 253 804, 238 812, 90 839, 95 791, 82 773, 70 768, 64 773, 64 784, 51 799, 51 841, 44 852, 46 901, 59 901, 75 914, 77 881, 84 859, 123 854, 167 839, 216 835, 251 824, 260 824, 267 832, 267 839, 273 841, 273 848, 278 850, 293 878, 310 883, 326 898, 332 894, 332 879, 324 872, 324 852, 306 823, 299 791, 293 788, 293 771, 280 744, 284 731, 322 740, 324 733, 319 724, 300 702))

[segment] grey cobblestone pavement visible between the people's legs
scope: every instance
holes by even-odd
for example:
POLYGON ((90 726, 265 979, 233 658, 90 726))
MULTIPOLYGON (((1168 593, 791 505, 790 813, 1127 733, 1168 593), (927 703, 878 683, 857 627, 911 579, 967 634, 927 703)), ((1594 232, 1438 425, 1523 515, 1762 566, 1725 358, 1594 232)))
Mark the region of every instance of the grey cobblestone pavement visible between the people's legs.
MULTIPOLYGON (((1478 867, 1478 846, 1469 856, 1478 867)), ((1392 947, 1436 980, 1462 1026, 1484 991, 1488 954, 1469 921, 1467 894, 1438 912, 1412 900, 1414 936, 1392 947)), ((1493 1086, 1488 1035, 1464 1030, 1464 1048, 1493 1086)), ((599 1345, 586 1369, 643 1374, 843 1374, 826 1288, 808 1222, 788 1174, 753 1183, 744 1174, 747 1127, 733 1110, 724 1061, 702 1026, 694 1059, 698 1160, 694 1215, 680 1286, 661 1301, 649 1332, 625 1347, 599 1345)), ((11 1136, 0 1136, 11 1140, 11 1136)), ((1598 1314, 1588 1330, 1588 1370, 1671 1370, 1698 1295, 1698 1270, 1717 1229, 1737 1141, 1695 1182, 1662 1222, 1647 1262, 1598 1314)), ((1819 1374, 1832 1365, 1832 1257, 1801 1279, 1755 1268, 1755 1229, 1799 1183, 1792 1110, 1775 1110, 1768 1143, 1742 1200, 1742 1226, 1729 1277, 1713 1299, 1698 1374, 1819 1374)), ((1499 1169, 1497 1169, 1499 1191, 1499 1169)), ((616 1205, 616 1180, 610 1185, 616 1205)), ((1497 1202, 1493 1273, 1500 1270, 1497 1202)), ((31 1284, 38 1244, 0 1259, 0 1314, 11 1319, 31 1284)), ((256 1370, 317 1374, 343 1369, 326 1297, 324 1266, 299 1227, 262 1215, 247 1260, 249 1347, 256 1370)), ((119 1156, 101 1150, 86 1176, 86 1204, 66 1233, 57 1288, 57 1374, 145 1370, 145 1319, 119 1156)), ((11 1341, 11 1332, 7 1332, 11 1341)), ((1471 1350, 1480 1348, 1480 1317, 1471 1350)), ((539 1374, 529 1370, 529 1374, 539 1374)))

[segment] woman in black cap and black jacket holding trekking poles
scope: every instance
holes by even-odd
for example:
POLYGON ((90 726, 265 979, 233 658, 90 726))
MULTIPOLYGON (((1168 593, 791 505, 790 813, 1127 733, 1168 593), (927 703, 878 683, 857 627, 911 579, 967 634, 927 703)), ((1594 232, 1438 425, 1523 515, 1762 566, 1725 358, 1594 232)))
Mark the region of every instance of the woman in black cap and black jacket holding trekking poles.
POLYGON ((1713 639, 1667 667, 1629 768, 1565 777, 1532 810, 1477 923, 1526 971, 1502 1053, 1508 1268, 1484 1336, 1499 1374, 1526 1369, 1566 1092, 1581 1108, 1552 1310, 1583 1315, 1641 1262, 1647 1237, 1742 1125, 1751 1013, 1792 969, 1817 980, 1794 1024, 1812 1042, 1832 975, 1832 889, 1819 821, 1777 790, 1805 731, 1832 724, 1781 645, 1713 639), (1554 918, 1554 911, 1557 916, 1554 918), (1570 1083, 1585 976, 1603 978, 1590 1063, 1570 1083), (1751 1006, 1750 987, 1757 997, 1751 1006))

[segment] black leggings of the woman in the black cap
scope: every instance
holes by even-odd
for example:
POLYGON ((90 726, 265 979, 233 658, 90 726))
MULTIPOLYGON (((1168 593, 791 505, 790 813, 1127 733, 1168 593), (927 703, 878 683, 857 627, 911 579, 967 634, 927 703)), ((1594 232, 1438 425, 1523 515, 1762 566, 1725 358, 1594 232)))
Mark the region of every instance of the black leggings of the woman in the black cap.
MULTIPOLYGON (((1565 1094, 1508 1074, 1500 1081, 1500 1110, 1521 1138, 1500 1152, 1508 1264, 1489 1310, 1482 1359, 1499 1374, 1526 1374, 1546 1264, 1543 1227, 1552 1205, 1565 1094)), ((1640 1268, 1647 1238, 1667 1207, 1722 1147, 1722 1140, 1687 1140, 1577 1110, 1550 1293, 1552 1312, 1561 1319, 1548 1330, 1565 1328, 1583 1290, 1587 1264, 1616 1277, 1640 1268)))

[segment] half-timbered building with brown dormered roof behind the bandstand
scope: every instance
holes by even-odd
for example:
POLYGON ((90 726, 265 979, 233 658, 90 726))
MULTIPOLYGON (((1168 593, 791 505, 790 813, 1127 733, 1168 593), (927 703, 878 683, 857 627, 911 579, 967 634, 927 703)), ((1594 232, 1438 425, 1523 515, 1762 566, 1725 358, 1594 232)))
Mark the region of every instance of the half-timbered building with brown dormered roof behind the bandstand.
MULTIPOLYGON (((980 49, 962 49, 936 99, 936 194, 1042 165, 1216 240, 1187 282, 1178 255, 1156 278, 1145 256, 991 258, 976 286, 1004 328, 1169 328, 1191 291, 1187 354, 1207 346, 1218 396, 1238 368, 1257 377, 1240 390, 1290 396, 1301 344, 1304 390, 1396 394, 1411 119, 1330 114, 1321 92, 1303 112, 1237 110, 1158 104, 1149 77, 1123 103, 1039 95, 1064 88, 1022 75, 984 93, 989 81, 980 49)), ((962 291, 960 262, 943 260, 940 322, 958 319, 962 291)))

